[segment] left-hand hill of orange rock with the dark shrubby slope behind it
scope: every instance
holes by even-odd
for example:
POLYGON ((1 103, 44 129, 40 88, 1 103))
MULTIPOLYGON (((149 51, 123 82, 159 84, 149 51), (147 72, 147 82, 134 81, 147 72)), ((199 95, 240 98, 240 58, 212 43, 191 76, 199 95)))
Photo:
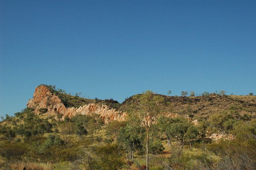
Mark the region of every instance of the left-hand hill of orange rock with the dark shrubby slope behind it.
MULTIPOLYGON (((116 101, 113 102, 116 103, 116 101)), ((36 87, 33 99, 28 101, 27 107, 33 108, 36 115, 46 113, 58 117, 58 115, 61 114, 62 120, 64 120, 65 117, 72 117, 77 114, 91 115, 96 113, 102 117, 105 123, 112 120, 124 121, 126 112, 116 111, 116 109, 101 103, 106 103, 106 101, 74 97, 59 93, 49 86, 40 85, 36 87), (72 103, 79 103, 81 106, 66 107, 64 105, 65 102, 71 106, 74 105, 72 103)), ((112 103, 109 102, 107 104, 111 105, 112 103)))

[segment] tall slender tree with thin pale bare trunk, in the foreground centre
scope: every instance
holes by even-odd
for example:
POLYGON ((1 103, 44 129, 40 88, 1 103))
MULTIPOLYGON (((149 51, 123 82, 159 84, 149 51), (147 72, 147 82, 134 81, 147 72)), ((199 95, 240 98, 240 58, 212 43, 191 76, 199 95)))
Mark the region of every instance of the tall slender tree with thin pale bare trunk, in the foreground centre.
POLYGON ((141 95, 134 97, 138 103, 133 105, 133 115, 140 120, 141 126, 146 130, 146 168, 148 169, 148 140, 149 130, 153 123, 156 122, 161 106, 164 104, 164 98, 155 95, 152 91, 145 91, 141 95))

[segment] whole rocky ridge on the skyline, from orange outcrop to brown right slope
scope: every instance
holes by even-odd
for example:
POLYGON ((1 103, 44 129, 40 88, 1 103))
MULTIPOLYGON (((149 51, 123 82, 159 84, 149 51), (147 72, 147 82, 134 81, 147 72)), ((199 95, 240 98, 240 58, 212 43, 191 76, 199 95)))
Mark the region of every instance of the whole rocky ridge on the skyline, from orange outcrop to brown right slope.
MULTIPOLYGON (((157 94, 156 94, 157 95, 157 94)), ((170 105, 163 108, 164 114, 175 117, 184 116, 193 119, 207 119, 215 113, 228 112, 233 115, 241 115, 242 119, 256 117, 256 96, 218 95, 198 97, 166 96, 165 102, 170 105)), ((60 93, 51 86, 40 85, 36 87, 33 99, 27 103, 27 107, 35 109, 34 113, 39 115, 47 113, 64 117, 72 117, 77 114, 90 115, 96 113, 101 115, 105 123, 112 120, 124 121, 132 105, 137 101, 134 96, 118 103, 113 99, 85 99, 78 96, 60 93)))

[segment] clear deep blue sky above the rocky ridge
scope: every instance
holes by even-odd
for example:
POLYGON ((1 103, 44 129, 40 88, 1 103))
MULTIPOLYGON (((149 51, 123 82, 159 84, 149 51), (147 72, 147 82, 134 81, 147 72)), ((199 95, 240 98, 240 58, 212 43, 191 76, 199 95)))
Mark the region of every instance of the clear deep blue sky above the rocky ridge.
POLYGON ((256 94, 256 1, 0 0, 0 115, 82 96, 256 94))

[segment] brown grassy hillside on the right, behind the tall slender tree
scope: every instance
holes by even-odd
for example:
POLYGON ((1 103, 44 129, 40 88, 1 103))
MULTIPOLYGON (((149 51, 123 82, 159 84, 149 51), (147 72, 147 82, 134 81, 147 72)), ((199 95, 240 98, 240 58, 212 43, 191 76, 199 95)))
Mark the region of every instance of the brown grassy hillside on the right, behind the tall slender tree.
MULTIPOLYGON (((166 102, 170 105, 165 107, 166 113, 174 113, 176 115, 193 115, 195 119, 207 119, 214 113, 222 113, 225 111, 233 114, 240 113, 255 117, 256 115, 256 96, 238 96, 238 95, 224 95, 210 94, 209 96, 198 97, 180 97, 180 96, 166 96, 166 102)), ((120 105, 120 111, 129 111, 131 106, 138 101, 134 97, 126 99, 120 105)))

